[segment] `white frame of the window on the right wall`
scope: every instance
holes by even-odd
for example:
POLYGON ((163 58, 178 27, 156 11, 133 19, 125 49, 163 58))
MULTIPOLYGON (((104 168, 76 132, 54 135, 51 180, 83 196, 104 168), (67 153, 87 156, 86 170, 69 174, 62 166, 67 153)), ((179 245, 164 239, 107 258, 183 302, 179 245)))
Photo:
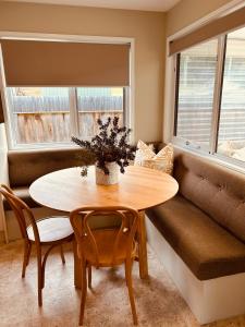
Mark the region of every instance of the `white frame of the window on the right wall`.
POLYGON ((224 46, 224 36, 218 36, 218 66, 217 66, 217 73, 216 73, 216 84, 218 87, 216 87, 215 95, 213 95, 213 112, 212 112, 212 126, 211 126, 211 138, 210 138, 210 152, 206 152, 204 148, 200 148, 197 144, 186 142, 186 140, 174 136, 174 121, 175 121, 175 100, 176 100, 176 57, 177 55, 173 55, 169 57, 169 45, 172 40, 182 37, 200 26, 209 23, 210 21, 213 21, 216 19, 219 19, 222 15, 229 14, 240 8, 244 7, 243 0, 234 0, 230 3, 221 7, 217 11, 210 13, 209 15, 203 17, 201 20, 198 20, 197 22, 193 23, 192 25, 179 31, 176 34, 171 35, 167 38, 167 52, 166 52, 166 83, 164 86, 164 116, 163 116, 163 142, 164 143, 172 143, 174 146, 189 152, 194 153, 200 157, 206 157, 208 159, 211 159, 213 161, 219 162, 220 165, 223 165, 225 167, 229 167, 233 170, 237 170, 240 172, 245 173, 245 162, 226 157, 224 155, 215 153, 216 144, 216 135, 217 135, 217 120, 219 117, 219 90, 221 89, 221 80, 220 80, 220 71, 222 70, 222 58, 221 55, 223 53, 223 46, 224 46))

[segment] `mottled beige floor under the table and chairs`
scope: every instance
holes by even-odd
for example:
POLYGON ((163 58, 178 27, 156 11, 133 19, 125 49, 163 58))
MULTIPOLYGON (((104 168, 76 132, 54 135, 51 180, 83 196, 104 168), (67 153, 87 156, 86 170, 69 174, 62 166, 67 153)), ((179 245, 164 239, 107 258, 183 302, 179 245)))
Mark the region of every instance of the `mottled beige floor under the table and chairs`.
MULTIPOLYGON (((35 254, 25 279, 21 278, 22 243, 0 245, 0 326, 77 326, 79 291, 73 287, 73 257, 68 249, 62 266, 58 253, 47 263, 44 306, 38 308, 35 254)), ((139 326, 199 326, 176 288, 149 251, 150 279, 138 278, 134 265, 134 289, 139 326)), ((123 270, 93 270, 93 292, 88 291, 84 326, 133 326, 123 270)), ((245 317, 210 324, 210 327, 242 327, 245 317)))

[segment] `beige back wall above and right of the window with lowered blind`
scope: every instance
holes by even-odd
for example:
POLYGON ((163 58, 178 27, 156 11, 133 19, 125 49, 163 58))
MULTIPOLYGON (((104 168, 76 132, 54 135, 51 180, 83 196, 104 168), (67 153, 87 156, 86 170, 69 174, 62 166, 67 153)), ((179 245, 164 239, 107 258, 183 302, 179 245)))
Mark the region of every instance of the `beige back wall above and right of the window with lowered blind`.
POLYGON ((135 38, 135 138, 162 137, 164 13, 0 1, 0 31, 135 38))

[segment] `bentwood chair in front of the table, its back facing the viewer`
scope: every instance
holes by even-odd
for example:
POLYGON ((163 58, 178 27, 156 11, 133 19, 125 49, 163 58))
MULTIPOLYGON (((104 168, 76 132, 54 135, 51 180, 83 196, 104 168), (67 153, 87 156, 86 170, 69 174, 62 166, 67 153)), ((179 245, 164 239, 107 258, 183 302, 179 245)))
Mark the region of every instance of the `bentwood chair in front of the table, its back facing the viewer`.
POLYGON ((138 213, 128 207, 82 207, 70 214, 77 242, 77 254, 82 264, 82 298, 79 325, 83 325, 87 294, 86 268, 88 268, 88 287, 91 287, 91 266, 114 267, 124 264, 126 286, 128 289, 134 325, 137 315, 132 287, 132 265, 136 257, 135 233, 138 213), (89 219, 94 216, 113 215, 121 218, 119 227, 91 229, 89 219))

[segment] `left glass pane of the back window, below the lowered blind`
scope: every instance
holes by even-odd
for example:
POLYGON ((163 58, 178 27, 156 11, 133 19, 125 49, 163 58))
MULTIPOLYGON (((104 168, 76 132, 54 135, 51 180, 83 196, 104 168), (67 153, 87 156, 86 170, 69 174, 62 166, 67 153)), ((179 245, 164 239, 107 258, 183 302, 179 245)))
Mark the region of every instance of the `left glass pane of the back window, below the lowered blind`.
POLYGON ((65 87, 8 87, 16 145, 69 142, 70 106, 65 87))

